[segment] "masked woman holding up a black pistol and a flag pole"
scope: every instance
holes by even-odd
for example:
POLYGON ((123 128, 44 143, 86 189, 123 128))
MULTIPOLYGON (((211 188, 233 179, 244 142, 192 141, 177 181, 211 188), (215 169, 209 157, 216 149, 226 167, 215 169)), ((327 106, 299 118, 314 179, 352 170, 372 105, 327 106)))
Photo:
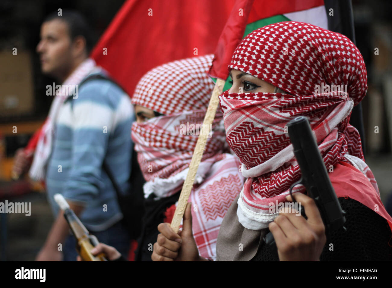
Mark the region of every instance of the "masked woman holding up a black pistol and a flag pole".
MULTIPOLYGON (((227 142, 240 158, 247 179, 223 219, 217 259, 390 259, 392 219, 364 162, 358 131, 348 123, 352 108, 367 91, 365 63, 355 45, 341 34, 314 25, 281 22, 246 36, 229 70, 233 85, 220 96, 220 103, 227 142), (332 85, 339 85, 341 92, 331 91, 337 87, 332 85), (276 207, 293 200, 286 197, 301 176, 285 130, 297 116, 309 118, 346 212, 347 231, 333 232, 328 239, 317 206, 302 194, 303 186, 297 189, 302 193, 294 195, 307 219, 287 210, 279 213, 276 207), (261 241, 269 230, 278 257, 261 241)), ((185 216, 191 217, 189 212, 185 216)), ((163 234, 171 244, 178 237, 169 229, 163 234)), ((167 253, 166 246, 157 247, 154 254, 167 253)), ((177 253, 174 259, 198 259, 187 239, 176 248, 172 249, 177 253), (185 254, 184 247, 191 252, 185 254)))

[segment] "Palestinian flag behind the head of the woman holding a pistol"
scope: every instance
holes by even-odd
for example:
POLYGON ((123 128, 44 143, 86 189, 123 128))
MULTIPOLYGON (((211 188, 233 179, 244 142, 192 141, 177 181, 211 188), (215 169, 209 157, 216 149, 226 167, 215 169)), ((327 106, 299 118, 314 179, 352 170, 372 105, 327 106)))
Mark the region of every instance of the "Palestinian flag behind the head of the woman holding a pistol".
MULTIPOLYGON (((265 25, 299 21, 319 26, 347 36, 355 44, 351 0, 237 0, 222 31, 209 74, 230 88, 227 65, 241 40, 265 25)), ((365 132, 362 103, 352 110, 350 124, 359 132, 365 153, 365 132)))

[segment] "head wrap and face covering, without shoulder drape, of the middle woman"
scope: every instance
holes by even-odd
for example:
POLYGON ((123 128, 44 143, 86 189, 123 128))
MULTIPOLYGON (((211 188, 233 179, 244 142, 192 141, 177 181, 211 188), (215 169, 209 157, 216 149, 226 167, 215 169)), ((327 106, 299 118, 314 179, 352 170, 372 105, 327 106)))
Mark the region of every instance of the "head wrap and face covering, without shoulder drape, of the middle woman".
MULTIPOLYGON (((144 123, 134 123, 132 139, 147 183, 145 197, 155 193, 168 197, 178 191, 187 175, 198 139, 196 127, 203 123, 214 83, 206 72, 212 55, 174 61, 152 69, 136 86, 132 104, 160 112, 144 123), (193 131, 192 131, 193 129, 193 131)), ((205 159, 221 154, 225 132, 218 112, 203 154, 205 159)), ((203 132, 200 129, 198 132, 203 132)), ((214 161, 200 165, 196 182, 214 161)))

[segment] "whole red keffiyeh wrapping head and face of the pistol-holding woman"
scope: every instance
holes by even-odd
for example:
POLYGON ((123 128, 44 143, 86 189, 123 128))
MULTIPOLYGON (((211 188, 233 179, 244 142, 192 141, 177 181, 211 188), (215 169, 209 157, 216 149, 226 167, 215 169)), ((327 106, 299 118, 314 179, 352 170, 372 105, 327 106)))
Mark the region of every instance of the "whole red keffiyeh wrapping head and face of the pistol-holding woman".
MULTIPOLYGON (((286 202, 290 185, 300 178, 286 127, 299 115, 310 119, 327 169, 338 161, 351 163, 378 192, 363 161, 359 133, 348 124, 353 106, 367 91, 367 74, 361 54, 347 37, 300 22, 268 25, 242 40, 229 69, 292 94, 226 91, 220 96, 227 142, 247 177, 237 211, 245 228, 266 228, 278 214, 277 207, 269 210, 272 203, 286 202), (317 90, 326 85, 347 85, 347 90, 317 90)), ((305 189, 301 185, 294 190, 305 189)))

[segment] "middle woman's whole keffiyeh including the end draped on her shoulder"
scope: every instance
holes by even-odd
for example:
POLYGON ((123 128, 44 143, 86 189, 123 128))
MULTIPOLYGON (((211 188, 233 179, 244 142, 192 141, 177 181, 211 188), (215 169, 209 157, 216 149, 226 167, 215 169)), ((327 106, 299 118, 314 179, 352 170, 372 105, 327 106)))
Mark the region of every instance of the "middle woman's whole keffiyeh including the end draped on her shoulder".
MULTIPOLYGON (((132 125, 132 140, 146 183, 145 197, 169 197, 181 189, 214 83, 207 75, 213 55, 156 67, 138 83, 132 103, 164 114, 132 125)), ((218 111, 191 192, 192 230, 201 256, 215 259, 216 239, 243 177, 236 156, 223 153, 225 130, 218 111)))

